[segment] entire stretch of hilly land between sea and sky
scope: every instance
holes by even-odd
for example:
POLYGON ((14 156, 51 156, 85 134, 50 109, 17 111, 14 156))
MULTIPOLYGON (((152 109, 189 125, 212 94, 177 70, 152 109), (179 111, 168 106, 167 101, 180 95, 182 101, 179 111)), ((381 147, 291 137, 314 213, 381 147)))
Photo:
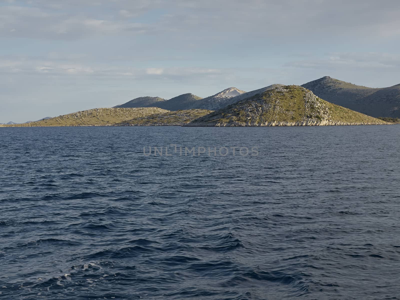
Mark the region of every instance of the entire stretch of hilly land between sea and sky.
POLYGON ((139 97, 112 108, 94 108, 23 124, 36 126, 302 126, 396 124, 400 84, 368 88, 329 76, 302 86, 272 84, 245 92, 226 88, 201 98, 139 97))

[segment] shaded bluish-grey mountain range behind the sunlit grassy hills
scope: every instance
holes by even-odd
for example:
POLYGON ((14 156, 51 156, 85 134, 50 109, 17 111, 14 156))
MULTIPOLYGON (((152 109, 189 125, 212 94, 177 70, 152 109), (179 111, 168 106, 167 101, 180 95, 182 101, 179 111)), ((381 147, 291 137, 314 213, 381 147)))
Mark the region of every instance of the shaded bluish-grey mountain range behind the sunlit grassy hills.
MULTIPOLYGON (((194 108, 219 110, 250 96, 282 86, 284 84, 272 84, 250 92, 230 87, 206 98, 200 98, 190 93, 176 96, 170 100, 160 97, 140 97, 116 107, 155 106, 166 110, 188 110, 194 108)), ((324 76, 303 84, 302 87, 310 90, 321 99, 368 116, 400 118, 400 84, 387 88, 368 88, 330 76, 324 76)))

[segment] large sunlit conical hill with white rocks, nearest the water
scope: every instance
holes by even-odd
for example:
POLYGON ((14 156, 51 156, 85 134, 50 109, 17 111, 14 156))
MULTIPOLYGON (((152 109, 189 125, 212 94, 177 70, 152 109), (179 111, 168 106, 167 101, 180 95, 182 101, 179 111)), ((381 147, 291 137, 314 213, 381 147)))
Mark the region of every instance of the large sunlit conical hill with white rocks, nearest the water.
POLYGON ((184 126, 308 126, 388 124, 314 95, 283 86, 200 117, 184 126))

